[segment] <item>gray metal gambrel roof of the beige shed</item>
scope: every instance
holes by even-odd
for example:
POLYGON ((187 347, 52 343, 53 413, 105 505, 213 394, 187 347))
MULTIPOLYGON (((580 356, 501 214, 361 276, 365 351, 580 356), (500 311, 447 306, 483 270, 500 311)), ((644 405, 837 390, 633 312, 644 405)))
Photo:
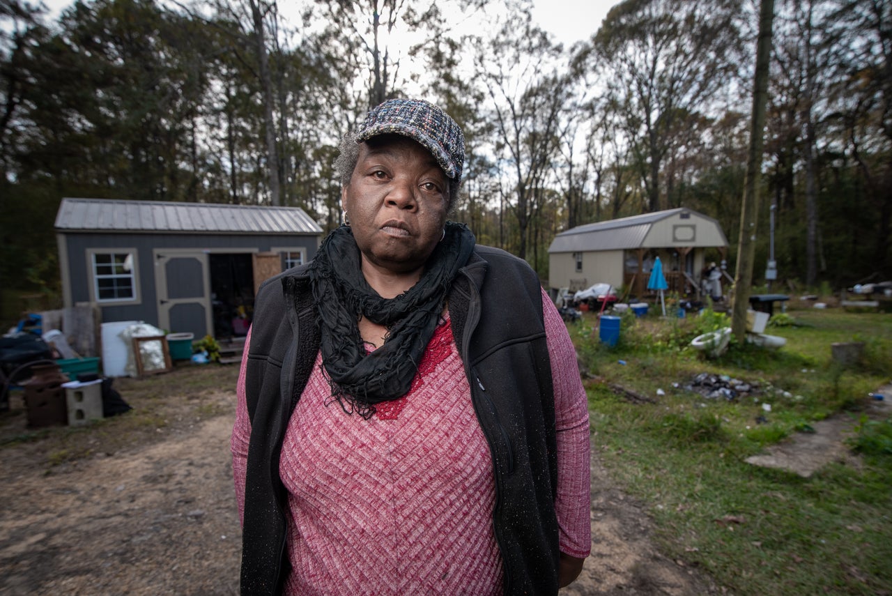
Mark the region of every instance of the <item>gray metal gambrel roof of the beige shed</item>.
MULTIPOLYGON (((723 239, 722 245, 727 245, 724 233, 718 222, 706 217, 698 211, 677 207, 665 211, 643 213, 627 218, 610 219, 597 223, 585 224, 561 232, 555 236, 549 246, 549 252, 593 252, 593 251, 617 251, 646 247, 648 234, 658 222, 673 218, 681 213, 690 213, 690 217, 700 219, 714 225, 718 236, 723 239)), ((697 243, 694 243, 699 245, 697 243)))

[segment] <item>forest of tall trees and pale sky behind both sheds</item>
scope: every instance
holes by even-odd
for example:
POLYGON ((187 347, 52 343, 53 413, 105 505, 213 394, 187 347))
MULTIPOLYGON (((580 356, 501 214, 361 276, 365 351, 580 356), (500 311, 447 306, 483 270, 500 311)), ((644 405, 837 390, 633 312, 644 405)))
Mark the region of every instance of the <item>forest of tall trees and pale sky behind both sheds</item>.
MULTIPOLYGON (((559 232, 681 206, 734 262, 757 2, 625 0, 573 46, 524 0, 284 5, 0 0, 0 308, 58 300, 65 196, 300 206, 335 228, 338 140, 401 95, 465 131, 452 219, 543 279, 559 232)), ((785 288, 888 279, 892 3, 777 0, 772 41, 754 283, 770 213, 785 288)))

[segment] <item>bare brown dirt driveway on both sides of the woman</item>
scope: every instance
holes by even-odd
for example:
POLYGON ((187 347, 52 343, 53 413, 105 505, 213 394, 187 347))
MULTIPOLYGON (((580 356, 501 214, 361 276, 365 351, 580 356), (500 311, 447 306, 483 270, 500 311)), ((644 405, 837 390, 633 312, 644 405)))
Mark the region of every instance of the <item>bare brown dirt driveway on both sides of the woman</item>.
MULTIPOLYGON (((202 374, 233 386, 236 372, 202 374)), ((238 592, 235 393, 200 388, 195 375, 118 379, 135 412, 87 429, 29 431, 12 395, 0 418, 0 593, 238 592)), ((654 549, 648 517, 611 484, 593 438, 592 555, 561 594, 719 592, 654 549)))

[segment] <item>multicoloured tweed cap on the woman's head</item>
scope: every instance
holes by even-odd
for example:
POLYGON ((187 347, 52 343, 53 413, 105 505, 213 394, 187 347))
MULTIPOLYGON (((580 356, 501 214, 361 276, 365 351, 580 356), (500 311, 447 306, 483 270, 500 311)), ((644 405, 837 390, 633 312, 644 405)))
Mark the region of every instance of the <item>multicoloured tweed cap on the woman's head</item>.
POLYGON ((356 140, 361 143, 386 134, 416 140, 434 155, 448 178, 461 182, 465 136, 455 120, 433 103, 423 99, 389 99, 368 112, 356 140))

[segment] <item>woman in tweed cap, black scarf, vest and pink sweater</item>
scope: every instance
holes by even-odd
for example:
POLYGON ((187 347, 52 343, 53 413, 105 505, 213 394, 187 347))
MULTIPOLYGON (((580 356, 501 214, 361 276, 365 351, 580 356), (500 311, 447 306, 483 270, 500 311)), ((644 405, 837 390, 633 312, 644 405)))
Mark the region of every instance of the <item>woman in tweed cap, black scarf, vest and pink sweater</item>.
POLYGON ((591 548, 566 327, 524 261, 447 222, 464 138, 445 112, 384 102, 341 148, 344 225, 255 302, 242 592, 557 593, 591 548))

